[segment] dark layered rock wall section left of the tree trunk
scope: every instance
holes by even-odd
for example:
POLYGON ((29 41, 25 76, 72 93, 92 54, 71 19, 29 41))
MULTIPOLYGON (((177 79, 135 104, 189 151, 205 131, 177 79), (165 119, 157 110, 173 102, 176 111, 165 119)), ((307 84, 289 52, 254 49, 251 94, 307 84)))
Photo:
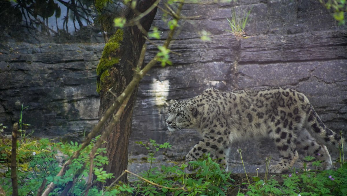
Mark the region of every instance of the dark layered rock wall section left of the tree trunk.
POLYGON ((98 122, 102 50, 103 44, 0 44, 0 122, 18 122, 23 104, 33 135, 82 137, 98 122))

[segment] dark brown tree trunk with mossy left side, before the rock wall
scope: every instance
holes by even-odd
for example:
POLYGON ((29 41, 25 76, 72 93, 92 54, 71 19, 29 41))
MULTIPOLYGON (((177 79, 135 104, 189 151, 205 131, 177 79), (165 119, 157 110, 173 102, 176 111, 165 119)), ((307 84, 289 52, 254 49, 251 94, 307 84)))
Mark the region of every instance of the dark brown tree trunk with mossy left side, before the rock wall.
MULTIPOLYGON (((144 12, 154 2, 154 0, 138 1, 136 8, 139 12, 144 12)), ((156 8, 140 20, 140 24, 146 32, 150 29, 155 14, 156 8)), ((127 21, 136 16, 137 15, 129 8, 125 8, 121 12, 121 17, 126 18, 127 21)), ((113 20, 110 22, 113 23, 113 20)), ((116 30, 110 30, 109 32, 115 31, 116 30)), ((113 35, 108 34, 105 37, 105 40, 108 42, 105 44, 97 68, 97 91, 100 93, 101 97, 99 119, 102 118, 106 110, 114 103, 116 100, 115 95, 119 96, 127 84, 132 80, 134 75, 133 69, 137 64, 141 48, 145 43, 143 33, 138 26, 118 29, 113 35)), ((127 107, 120 119, 120 123, 115 127, 112 127, 112 133, 107 138, 106 143, 102 146, 102 148, 107 149, 106 155, 109 159, 109 164, 104 166, 104 170, 108 173, 113 173, 115 177, 120 176, 121 173, 127 169, 128 144, 132 130, 132 114, 136 94, 137 87, 134 89, 133 94, 129 99, 127 107)), ((105 130, 110 121, 111 118, 107 120, 107 123, 102 128, 101 132, 105 130)), ((105 185, 110 185, 112 180, 113 179, 108 180, 105 185)), ((119 180, 127 183, 127 175, 122 176, 119 180)))

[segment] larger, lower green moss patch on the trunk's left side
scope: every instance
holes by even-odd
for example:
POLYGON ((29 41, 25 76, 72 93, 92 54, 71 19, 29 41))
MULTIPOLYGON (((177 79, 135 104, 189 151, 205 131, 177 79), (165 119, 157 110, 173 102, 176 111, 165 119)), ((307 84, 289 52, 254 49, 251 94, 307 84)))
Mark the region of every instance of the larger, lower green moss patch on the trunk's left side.
POLYGON ((110 38, 105 44, 104 50, 102 51, 101 59, 98 67, 96 68, 96 75, 98 75, 96 92, 100 93, 103 83, 106 83, 106 79, 109 76, 109 69, 119 63, 120 59, 120 45, 123 41, 123 30, 118 29, 117 32, 110 38))

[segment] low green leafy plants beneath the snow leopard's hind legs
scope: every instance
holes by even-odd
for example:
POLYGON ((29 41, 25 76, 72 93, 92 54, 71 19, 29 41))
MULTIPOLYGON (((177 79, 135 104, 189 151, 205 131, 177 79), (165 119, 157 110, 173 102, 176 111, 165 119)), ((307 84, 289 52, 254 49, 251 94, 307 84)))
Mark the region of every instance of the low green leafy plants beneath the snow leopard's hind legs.
MULTIPOLYGON (((311 156, 305 157, 304 170, 282 175, 283 184, 280 185, 272 176, 268 181, 253 177, 254 184, 248 186, 247 195, 346 195, 347 194, 347 164, 337 170, 308 170, 307 162, 319 167, 320 161, 314 161, 311 156)), ((239 193, 238 195, 244 195, 239 193)))

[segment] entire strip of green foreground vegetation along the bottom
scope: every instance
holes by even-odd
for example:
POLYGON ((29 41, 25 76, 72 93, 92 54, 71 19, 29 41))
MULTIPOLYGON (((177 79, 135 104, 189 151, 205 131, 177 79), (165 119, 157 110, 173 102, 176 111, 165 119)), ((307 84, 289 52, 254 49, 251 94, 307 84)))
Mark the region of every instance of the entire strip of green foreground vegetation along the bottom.
MULTIPOLYGON (((3 128, 0 125, 0 128, 3 128)), ((22 131, 22 130, 21 130, 22 131)), ((48 139, 31 139, 21 132, 17 142, 17 176, 18 194, 36 195, 41 183, 54 181, 57 185, 50 195, 346 195, 347 194, 347 162, 343 157, 338 161, 337 170, 308 170, 307 163, 312 167, 319 167, 320 162, 313 157, 306 157, 303 169, 292 169, 286 175, 272 175, 267 173, 254 176, 246 174, 232 174, 221 169, 209 155, 204 160, 190 162, 196 172, 186 173, 186 164, 181 166, 161 168, 152 167, 155 153, 161 149, 171 148, 169 143, 157 144, 154 140, 149 143, 138 142, 149 151, 148 161, 151 167, 148 171, 134 174, 137 181, 121 184, 111 173, 102 170, 103 164, 108 164, 106 157, 97 154, 94 158, 93 173, 96 176, 92 185, 102 183, 113 178, 114 183, 109 187, 87 186, 89 169, 85 169, 81 176, 74 181, 73 187, 65 192, 65 187, 73 181, 75 173, 88 159, 88 153, 94 143, 83 150, 81 156, 73 161, 66 174, 57 178, 63 161, 69 159, 73 152, 80 148, 78 143, 51 142, 48 139), (235 179, 235 180, 234 180, 235 179)), ((95 140, 94 140, 95 141, 95 140)), ((0 136, 0 185, 6 195, 12 194, 10 176, 11 139, 0 136)), ((98 153, 105 149, 98 149, 98 153)), ((240 151, 241 155, 241 151, 240 151)), ((343 156, 341 154, 341 156, 343 156)), ((267 168, 270 159, 267 158, 267 168)), ((89 165, 86 167, 88 168, 89 165)), ((125 173, 124 172, 124 173, 125 173)))

